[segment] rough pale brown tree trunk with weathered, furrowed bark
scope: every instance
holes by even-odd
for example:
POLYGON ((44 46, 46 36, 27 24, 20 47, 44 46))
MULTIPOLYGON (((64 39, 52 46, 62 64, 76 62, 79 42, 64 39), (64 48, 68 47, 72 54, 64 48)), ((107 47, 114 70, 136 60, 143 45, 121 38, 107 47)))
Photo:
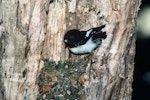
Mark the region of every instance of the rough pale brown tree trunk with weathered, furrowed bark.
POLYGON ((42 59, 68 59, 64 33, 106 24, 107 38, 83 75, 86 99, 130 100, 140 1, 0 0, 0 98, 35 100, 42 59))

